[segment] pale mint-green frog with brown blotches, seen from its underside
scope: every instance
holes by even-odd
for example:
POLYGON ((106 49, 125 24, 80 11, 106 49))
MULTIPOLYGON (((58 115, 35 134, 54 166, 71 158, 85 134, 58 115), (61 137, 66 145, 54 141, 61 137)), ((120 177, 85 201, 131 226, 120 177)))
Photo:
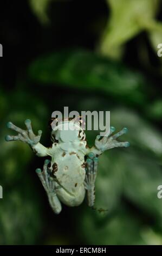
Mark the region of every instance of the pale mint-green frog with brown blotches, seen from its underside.
POLYGON ((24 121, 26 130, 17 127, 9 121, 7 127, 17 132, 17 135, 7 135, 5 140, 27 143, 38 157, 48 157, 43 168, 37 168, 36 173, 47 193, 49 204, 55 214, 60 214, 62 204, 79 206, 85 197, 87 204, 94 207, 95 181, 98 174, 99 156, 105 151, 129 147, 129 142, 120 142, 118 138, 127 133, 124 127, 114 133, 110 127, 106 136, 96 136, 93 147, 87 144, 85 129, 79 121, 51 118, 49 121, 51 146, 44 147, 40 143, 42 130, 37 135, 33 132, 31 120, 24 121), (55 122, 55 125, 53 125, 55 122), (68 129, 67 129, 68 127, 68 129))

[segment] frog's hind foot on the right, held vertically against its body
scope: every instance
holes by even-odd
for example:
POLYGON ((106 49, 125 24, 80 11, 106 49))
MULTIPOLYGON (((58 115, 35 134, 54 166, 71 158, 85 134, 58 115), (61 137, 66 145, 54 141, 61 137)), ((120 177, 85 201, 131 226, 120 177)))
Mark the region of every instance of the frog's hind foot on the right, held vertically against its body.
POLYGON ((95 201, 95 179, 98 169, 98 157, 94 157, 93 153, 89 153, 86 166, 86 177, 84 185, 87 190, 88 205, 93 206, 95 201))

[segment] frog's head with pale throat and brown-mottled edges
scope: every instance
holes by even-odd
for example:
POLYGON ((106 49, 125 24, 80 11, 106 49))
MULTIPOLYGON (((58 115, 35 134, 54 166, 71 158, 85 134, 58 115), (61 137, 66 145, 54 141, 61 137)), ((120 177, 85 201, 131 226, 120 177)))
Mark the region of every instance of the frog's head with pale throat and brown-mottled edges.
POLYGON ((49 121, 51 141, 74 142, 85 140, 86 134, 81 125, 82 121, 81 117, 79 119, 68 118, 61 121, 57 118, 52 118, 49 121))

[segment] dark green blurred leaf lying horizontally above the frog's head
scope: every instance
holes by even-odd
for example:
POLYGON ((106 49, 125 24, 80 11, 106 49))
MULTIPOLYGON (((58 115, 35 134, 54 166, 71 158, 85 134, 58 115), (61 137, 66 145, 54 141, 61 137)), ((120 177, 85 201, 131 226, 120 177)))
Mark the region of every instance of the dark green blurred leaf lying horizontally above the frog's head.
POLYGON ((139 73, 88 51, 63 51, 38 58, 29 67, 29 77, 44 86, 59 83, 100 92, 129 105, 145 105, 147 101, 146 82, 139 73))

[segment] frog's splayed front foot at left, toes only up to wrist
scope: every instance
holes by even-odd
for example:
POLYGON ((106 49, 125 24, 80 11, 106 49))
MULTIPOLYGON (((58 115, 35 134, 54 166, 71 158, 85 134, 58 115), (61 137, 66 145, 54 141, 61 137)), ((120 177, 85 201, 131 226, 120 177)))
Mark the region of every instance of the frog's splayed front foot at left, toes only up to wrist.
POLYGON ((36 136, 31 127, 30 119, 25 120, 25 125, 27 126, 27 130, 22 130, 21 128, 17 127, 11 122, 8 122, 7 127, 18 132, 18 135, 16 136, 7 135, 5 137, 5 140, 6 141, 22 141, 22 142, 28 143, 31 147, 36 145, 40 141, 42 131, 39 130, 38 135, 36 136))

